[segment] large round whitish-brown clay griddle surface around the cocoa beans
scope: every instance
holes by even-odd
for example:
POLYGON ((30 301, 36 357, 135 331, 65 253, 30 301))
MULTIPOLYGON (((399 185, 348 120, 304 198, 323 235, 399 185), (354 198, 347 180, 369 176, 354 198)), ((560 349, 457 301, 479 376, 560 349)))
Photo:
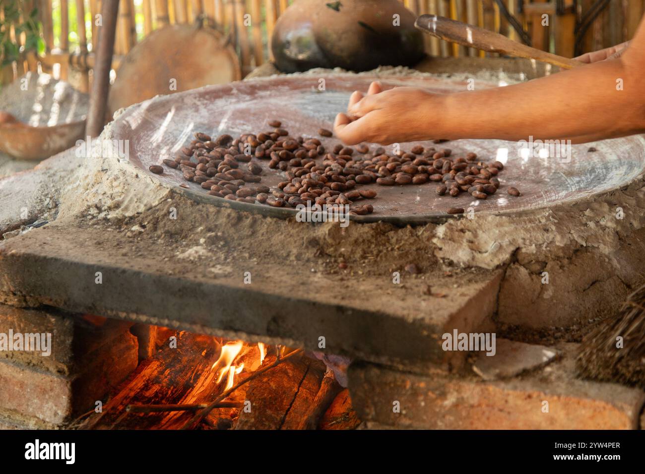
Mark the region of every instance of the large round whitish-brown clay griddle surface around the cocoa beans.
MULTIPOLYGON (((466 83, 448 79, 419 77, 371 77, 368 75, 330 75, 325 78, 326 90, 319 90, 317 75, 270 77, 253 81, 207 86, 179 94, 157 97, 129 108, 113 125, 114 138, 130 141, 130 161, 170 186, 188 184, 189 189, 177 187, 190 197, 217 206, 237 208, 248 212, 277 217, 290 217, 294 209, 272 208, 265 204, 228 201, 214 197, 196 183, 184 181, 179 170, 164 166, 162 175, 148 171, 150 164, 161 164, 165 158, 174 158, 180 148, 193 139, 194 132, 213 137, 230 133, 259 133, 271 130, 269 119, 283 122, 290 135, 313 136, 321 139, 329 150, 337 139, 317 136, 321 127, 331 129, 335 115, 345 110, 353 90, 366 91, 370 82, 379 79, 385 88, 390 86, 421 86, 433 92, 462 91, 466 83)), ((497 84, 478 86, 493 87, 497 84)), ((512 124, 510 124, 512 126, 512 124)), ((476 152, 479 157, 499 159, 506 166, 500 173, 499 191, 486 200, 473 199, 468 193, 459 197, 438 196, 436 183, 407 186, 379 186, 364 188, 377 191, 370 200, 374 213, 352 216, 361 222, 389 221, 395 224, 442 222, 451 207, 473 208, 475 212, 518 213, 566 202, 590 199, 596 193, 608 192, 633 181, 645 169, 645 139, 642 136, 613 139, 594 143, 596 152, 588 152, 590 144, 573 145, 571 161, 540 157, 526 158, 519 153, 515 142, 498 140, 458 140, 442 144, 421 142, 437 149, 452 148, 453 156, 476 152), (508 186, 515 186, 521 197, 511 197, 508 186)), ((412 143, 402 143, 402 150, 410 150, 412 143)), ((376 145, 371 145, 375 147, 376 145)), ((392 146, 386 148, 391 152, 392 146)), ((274 186, 284 181, 284 173, 268 168, 268 159, 257 159, 263 168, 262 184, 274 186)), ((368 202, 368 201, 361 201, 368 202)))

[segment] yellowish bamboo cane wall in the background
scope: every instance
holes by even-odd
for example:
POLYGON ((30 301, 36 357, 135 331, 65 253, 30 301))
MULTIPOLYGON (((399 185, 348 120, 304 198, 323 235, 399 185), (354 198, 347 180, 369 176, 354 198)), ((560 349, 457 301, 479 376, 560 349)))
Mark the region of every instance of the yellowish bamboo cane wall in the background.
MULTIPOLYGON (((67 79, 75 74, 75 85, 88 90, 94 64, 95 15, 101 0, 31 0, 37 2, 43 23, 45 54, 38 58, 45 72, 67 79)), ((297 0, 121 0, 115 41, 119 61, 141 39, 169 23, 193 22, 203 15, 224 34, 230 34, 242 65, 243 74, 268 61, 268 44, 275 21, 290 3, 297 0), (250 16, 245 17, 248 14, 250 16)), ((415 14, 439 14, 471 23, 519 41, 495 0, 402 0, 415 14)), ((579 49, 597 50, 626 41, 633 36, 644 12, 645 0, 607 0, 608 6, 591 23, 579 49)), ((576 19, 590 10, 595 0, 563 0, 564 9, 556 12, 556 1, 503 0, 510 14, 517 17, 533 46, 572 57, 575 52, 576 19), (558 13, 558 14, 557 14, 558 13), (549 15, 549 26, 541 25, 549 15)), ((20 38, 17 38, 20 41, 20 38)), ((425 37, 426 50, 441 56, 481 56, 484 52, 425 37)), ((38 67, 35 57, 26 57, 9 75, 21 75, 38 67)), ((3 71, 6 79, 7 69, 3 71)))

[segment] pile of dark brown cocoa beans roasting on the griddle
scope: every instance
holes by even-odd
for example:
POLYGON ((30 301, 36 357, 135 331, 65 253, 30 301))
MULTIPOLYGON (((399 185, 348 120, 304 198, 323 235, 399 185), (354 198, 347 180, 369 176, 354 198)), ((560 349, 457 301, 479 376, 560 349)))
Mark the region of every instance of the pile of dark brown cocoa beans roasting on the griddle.
MULTIPOLYGON (((219 135, 212 139, 205 133, 195 133, 195 139, 175 159, 164 159, 169 168, 178 169, 186 181, 199 183, 210 195, 233 201, 291 207, 313 204, 334 207, 350 205, 350 213, 365 215, 373 212, 371 204, 357 204, 377 195, 359 185, 395 186, 424 184, 434 181, 435 192, 453 197, 468 192, 476 199, 486 199, 499 188, 497 174, 504 169, 499 161, 486 163, 475 153, 453 157, 450 148, 437 150, 431 146, 412 147, 410 152, 388 154, 381 146, 370 150, 366 144, 343 146, 336 144, 326 150, 317 138, 291 137, 272 120, 267 132, 244 133, 233 139, 219 135), (275 188, 259 184, 262 166, 257 160, 268 159, 269 168, 284 172, 285 181, 275 188)), ((332 132, 321 128, 321 137, 332 132)), ((153 173, 163 173, 163 167, 153 164, 153 173)), ((513 196, 520 195, 508 188, 513 196)), ((462 213, 451 208, 448 213, 462 213)))

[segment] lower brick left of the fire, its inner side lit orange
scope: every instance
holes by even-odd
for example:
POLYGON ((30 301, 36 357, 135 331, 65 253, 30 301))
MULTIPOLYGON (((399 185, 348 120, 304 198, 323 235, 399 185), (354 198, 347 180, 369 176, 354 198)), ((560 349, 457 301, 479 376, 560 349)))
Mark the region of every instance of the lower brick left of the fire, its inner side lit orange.
MULTIPOLYGON (((129 332, 88 353, 85 370, 61 375, 35 366, 0 362, 0 407, 54 425, 94 406, 138 363, 136 338, 129 332)), ((104 401, 104 400, 103 400, 104 401)))

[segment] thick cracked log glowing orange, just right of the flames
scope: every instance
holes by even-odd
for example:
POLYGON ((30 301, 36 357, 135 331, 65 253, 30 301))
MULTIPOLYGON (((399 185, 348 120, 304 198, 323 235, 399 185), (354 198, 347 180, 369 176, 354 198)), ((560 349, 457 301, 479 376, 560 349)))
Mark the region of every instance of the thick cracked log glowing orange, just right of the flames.
MULTIPOLYGON (((275 360, 268 356, 266 364, 275 360)), ((293 430, 301 428, 315 406, 325 366, 319 360, 299 357, 284 362, 248 384, 251 411, 241 411, 235 430, 293 430)), ((323 409, 324 410, 324 409, 323 409)), ((314 423, 315 426, 315 423, 314 423)))

